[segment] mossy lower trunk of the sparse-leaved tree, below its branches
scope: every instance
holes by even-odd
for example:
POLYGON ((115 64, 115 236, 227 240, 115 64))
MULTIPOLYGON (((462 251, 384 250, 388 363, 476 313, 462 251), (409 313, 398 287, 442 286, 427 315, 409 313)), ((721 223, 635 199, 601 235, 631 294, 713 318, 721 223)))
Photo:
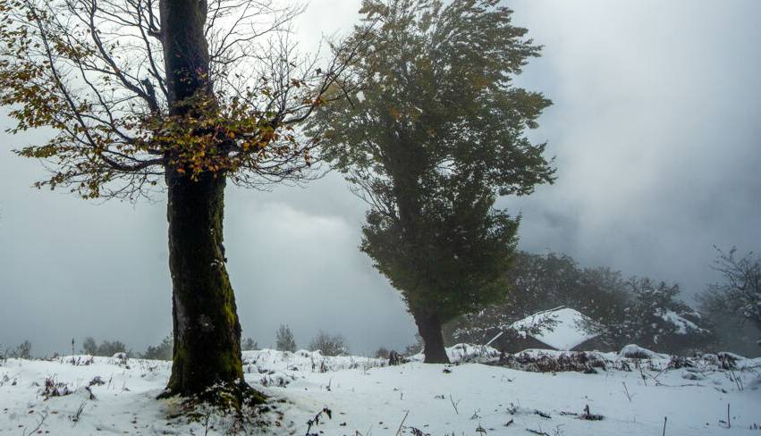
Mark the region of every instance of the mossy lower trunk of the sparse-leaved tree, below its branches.
POLYGON ((241 324, 224 267, 224 175, 167 169, 174 350, 169 395, 244 385, 241 324))

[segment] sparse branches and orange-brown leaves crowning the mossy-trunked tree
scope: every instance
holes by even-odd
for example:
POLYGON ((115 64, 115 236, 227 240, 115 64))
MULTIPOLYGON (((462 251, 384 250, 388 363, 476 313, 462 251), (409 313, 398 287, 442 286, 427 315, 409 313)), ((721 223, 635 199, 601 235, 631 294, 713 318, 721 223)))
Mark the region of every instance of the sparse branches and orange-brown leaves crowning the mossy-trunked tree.
POLYGON ((301 7, 275 0, 210 0, 162 22, 170 3, 0 1, 11 131, 55 131, 16 150, 47 163, 38 187, 135 198, 160 186, 167 167, 225 172, 245 186, 309 177, 315 143, 294 125, 328 89, 349 86, 342 71, 359 46, 330 61, 299 55, 287 26, 301 7), (186 62, 201 57, 201 67, 186 62), (198 86, 179 96, 173 82, 198 86))

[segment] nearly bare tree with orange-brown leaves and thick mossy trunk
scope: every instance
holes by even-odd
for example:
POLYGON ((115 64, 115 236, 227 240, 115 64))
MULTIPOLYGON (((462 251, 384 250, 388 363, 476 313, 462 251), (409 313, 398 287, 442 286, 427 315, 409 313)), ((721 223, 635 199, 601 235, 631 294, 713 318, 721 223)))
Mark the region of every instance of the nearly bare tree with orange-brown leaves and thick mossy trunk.
MULTIPOLYGON (((317 175, 298 123, 351 90, 364 42, 300 57, 275 0, 0 0, 0 104, 38 187, 85 198, 168 194, 173 369, 164 395, 241 392, 241 326, 223 247, 226 181, 317 175)), ((236 396, 241 398, 241 396, 236 396)), ((240 401, 239 401, 240 402, 240 401)))

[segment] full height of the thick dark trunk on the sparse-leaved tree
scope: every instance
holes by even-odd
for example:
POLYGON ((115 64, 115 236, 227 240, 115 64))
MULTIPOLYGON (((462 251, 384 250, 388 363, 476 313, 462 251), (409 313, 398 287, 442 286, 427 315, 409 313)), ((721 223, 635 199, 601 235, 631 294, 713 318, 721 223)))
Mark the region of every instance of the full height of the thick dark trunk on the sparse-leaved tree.
MULTIPOLYGON (((159 10, 169 111, 202 117, 197 103, 215 102, 204 34, 207 2, 160 0, 159 10)), ((222 245, 225 176, 207 171, 191 179, 180 155, 181 149, 173 149, 165 156, 174 349, 163 396, 241 407, 262 397, 243 380, 241 325, 222 245)))

